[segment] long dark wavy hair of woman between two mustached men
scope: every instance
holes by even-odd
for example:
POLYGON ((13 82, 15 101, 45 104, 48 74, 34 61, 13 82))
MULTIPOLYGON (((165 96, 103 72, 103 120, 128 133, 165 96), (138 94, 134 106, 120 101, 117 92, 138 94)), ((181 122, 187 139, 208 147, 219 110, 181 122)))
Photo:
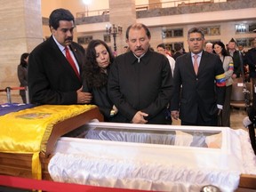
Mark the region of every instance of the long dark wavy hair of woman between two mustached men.
MULTIPOLYGON (((115 57, 111 52, 108 44, 101 41, 100 39, 92 40, 86 49, 85 65, 83 68, 83 76, 90 88, 100 88, 108 83, 108 75, 103 72, 103 69, 99 67, 96 60, 95 47, 102 44, 106 47, 109 54, 109 62, 113 63, 115 57)), ((109 66, 108 66, 109 68, 109 66)), ((107 68, 107 69, 108 69, 107 68)))

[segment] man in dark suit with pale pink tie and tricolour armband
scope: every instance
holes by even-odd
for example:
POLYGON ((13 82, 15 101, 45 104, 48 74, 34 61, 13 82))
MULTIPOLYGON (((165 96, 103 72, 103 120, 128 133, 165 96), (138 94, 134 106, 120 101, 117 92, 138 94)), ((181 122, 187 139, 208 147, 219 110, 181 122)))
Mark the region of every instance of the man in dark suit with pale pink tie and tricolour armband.
POLYGON ((188 30, 188 47, 190 52, 176 60, 172 117, 180 118, 182 125, 216 126, 226 86, 220 57, 204 52, 200 28, 188 30))

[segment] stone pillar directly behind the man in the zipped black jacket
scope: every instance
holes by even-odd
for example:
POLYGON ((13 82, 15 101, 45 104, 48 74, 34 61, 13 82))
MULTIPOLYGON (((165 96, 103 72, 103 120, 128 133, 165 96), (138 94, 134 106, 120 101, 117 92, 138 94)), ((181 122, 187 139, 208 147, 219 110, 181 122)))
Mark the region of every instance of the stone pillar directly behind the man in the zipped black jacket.
MULTIPOLYGON (((117 54, 123 52, 126 28, 136 22, 135 0, 109 0, 110 24, 122 26, 123 32, 116 36, 117 54)), ((114 40, 111 36, 111 47, 114 50, 114 40)))

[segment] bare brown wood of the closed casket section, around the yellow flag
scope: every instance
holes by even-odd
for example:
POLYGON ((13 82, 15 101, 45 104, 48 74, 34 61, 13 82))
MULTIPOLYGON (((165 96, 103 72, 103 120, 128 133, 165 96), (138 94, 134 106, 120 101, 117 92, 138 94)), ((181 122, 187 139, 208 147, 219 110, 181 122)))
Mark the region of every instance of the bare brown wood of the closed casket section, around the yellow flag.
MULTIPOLYGON (((92 119, 103 121, 99 108, 92 108, 84 113, 68 118, 53 125, 52 133, 46 145, 46 152, 40 152, 42 179, 52 180, 48 172, 48 163, 52 157, 57 140, 64 134, 76 130, 92 119)), ((32 178, 32 155, 0 152, 0 174, 23 178, 32 178)))

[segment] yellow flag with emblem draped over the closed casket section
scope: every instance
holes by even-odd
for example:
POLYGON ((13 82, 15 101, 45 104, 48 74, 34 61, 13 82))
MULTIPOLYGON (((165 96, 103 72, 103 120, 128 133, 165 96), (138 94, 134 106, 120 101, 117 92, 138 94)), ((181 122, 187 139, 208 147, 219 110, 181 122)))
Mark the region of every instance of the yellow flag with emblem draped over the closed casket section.
POLYGON ((0 116, 0 152, 32 154, 32 175, 41 180, 39 159, 45 150, 53 125, 84 111, 93 105, 44 105, 0 116))

